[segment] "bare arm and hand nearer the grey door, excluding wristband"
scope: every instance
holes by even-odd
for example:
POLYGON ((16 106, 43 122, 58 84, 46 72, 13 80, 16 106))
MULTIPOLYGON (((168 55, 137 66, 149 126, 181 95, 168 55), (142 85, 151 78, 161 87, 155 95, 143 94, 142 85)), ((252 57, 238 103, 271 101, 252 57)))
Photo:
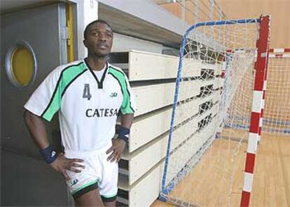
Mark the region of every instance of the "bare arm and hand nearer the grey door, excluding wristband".
MULTIPOLYGON (((46 125, 44 124, 41 117, 34 115, 33 113, 29 112, 28 110, 25 110, 25 123, 27 125, 27 128, 29 130, 29 134, 32 136, 32 140, 34 143, 40 148, 40 150, 48 148, 49 141, 48 141, 48 135, 46 133, 46 125)), ((77 164, 76 162, 83 162, 82 159, 67 159, 64 157, 64 154, 61 153, 57 156, 55 161, 50 163, 50 166, 53 167, 56 171, 59 171, 62 173, 64 178, 69 180, 69 176, 67 175, 66 170, 74 171, 76 173, 81 172, 78 169, 75 169, 74 167, 83 167, 80 164, 77 164)))

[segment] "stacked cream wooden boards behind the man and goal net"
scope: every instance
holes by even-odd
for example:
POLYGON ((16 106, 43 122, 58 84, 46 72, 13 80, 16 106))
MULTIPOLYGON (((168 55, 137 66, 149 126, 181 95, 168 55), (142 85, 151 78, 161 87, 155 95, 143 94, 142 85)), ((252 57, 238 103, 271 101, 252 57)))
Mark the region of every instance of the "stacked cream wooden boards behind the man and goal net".
MULTIPOLYGON (((130 50, 113 52, 110 61, 127 73, 137 102, 130 141, 119 162, 118 201, 128 206, 149 206, 160 190, 179 58, 130 50)), ((181 82, 179 100, 184 103, 177 108, 186 112, 186 116, 177 113, 175 123, 185 124, 175 131, 181 138, 172 143, 172 150, 182 148, 188 136, 212 136, 215 120, 219 118, 216 114, 223 84, 221 66, 189 59, 184 63, 184 71, 194 78, 181 82), (200 78, 207 76, 205 73, 211 76, 200 78), (205 93, 205 90, 210 92, 205 93), (205 108, 205 104, 211 107, 205 108), (200 124, 205 121, 207 124, 200 124)), ((178 152, 174 152, 174 156, 184 156, 178 152)))

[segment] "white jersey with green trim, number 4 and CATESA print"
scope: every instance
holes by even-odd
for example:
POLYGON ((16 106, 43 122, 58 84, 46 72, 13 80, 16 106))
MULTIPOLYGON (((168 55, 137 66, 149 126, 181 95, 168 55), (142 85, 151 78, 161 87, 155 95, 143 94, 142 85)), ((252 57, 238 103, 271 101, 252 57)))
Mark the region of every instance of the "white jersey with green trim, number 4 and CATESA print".
POLYGON ((25 108, 50 121, 59 113, 65 150, 103 148, 115 134, 118 112, 134 113, 134 97, 125 73, 109 63, 101 80, 85 60, 53 70, 25 108))

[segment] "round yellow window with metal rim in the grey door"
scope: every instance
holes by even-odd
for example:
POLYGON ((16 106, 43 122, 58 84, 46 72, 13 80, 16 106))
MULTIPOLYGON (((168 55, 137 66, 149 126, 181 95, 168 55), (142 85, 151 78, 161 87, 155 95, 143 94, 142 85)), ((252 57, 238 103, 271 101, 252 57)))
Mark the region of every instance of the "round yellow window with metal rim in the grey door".
POLYGON ((36 76, 36 58, 32 47, 25 41, 18 41, 6 55, 6 73, 17 87, 27 87, 36 76))

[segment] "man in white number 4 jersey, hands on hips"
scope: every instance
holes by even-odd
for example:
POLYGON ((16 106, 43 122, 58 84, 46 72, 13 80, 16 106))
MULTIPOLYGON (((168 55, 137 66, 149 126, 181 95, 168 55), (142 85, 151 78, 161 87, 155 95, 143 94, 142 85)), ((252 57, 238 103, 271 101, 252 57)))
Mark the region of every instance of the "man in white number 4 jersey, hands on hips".
POLYGON ((25 122, 41 155, 62 173, 76 206, 116 206, 118 161, 130 134, 134 100, 125 73, 107 62, 111 26, 96 20, 84 31, 88 57, 59 66, 25 104, 25 122), (118 138, 113 138, 118 112, 118 138), (64 154, 50 146, 43 119, 59 112, 64 154))

